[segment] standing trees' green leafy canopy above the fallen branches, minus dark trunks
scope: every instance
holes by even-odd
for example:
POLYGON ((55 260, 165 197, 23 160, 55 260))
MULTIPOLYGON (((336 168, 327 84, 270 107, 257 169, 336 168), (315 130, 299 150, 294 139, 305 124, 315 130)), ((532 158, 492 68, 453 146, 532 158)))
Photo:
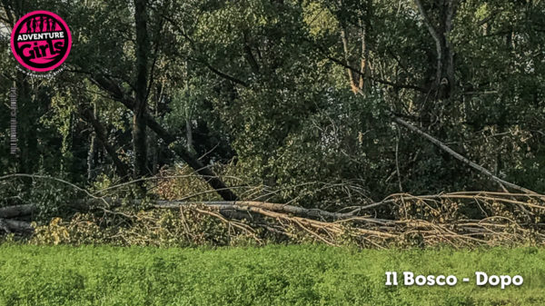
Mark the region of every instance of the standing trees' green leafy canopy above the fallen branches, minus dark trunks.
MULTIPOLYGON (((442 29, 454 77, 452 93, 443 97, 434 88, 436 42, 411 1, 150 1, 148 110, 190 153, 205 155, 204 164, 228 164, 241 179, 229 183, 282 191, 274 202, 338 207, 392 192, 498 188, 393 125, 390 113, 502 179, 542 192, 545 6, 457 3, 451 31, 442 29), (351 91, 346 65, 352 74, 368 69, 359 94, 351 91)), ((114 178, 108 153, 90 147, 94 128, 82 110, 96 111, 106 143, 130 164, 132 113, 120 100, 135 89, 133 6, 121 0, 6 4, 3 21, 37 8, 63 16, 74 47, 66 70, 43 82, 17 72, 7 45, 0 45, 0 99, 7 101, 15 82, 21 148, 19 156, 9 155, 8 104, 0 104, 0 173, 43 171, 88 185, 94 184, 89 169, 102 174, 97 180, 114 178), (95 74, 114 88, 96 84, 95 74)), ((440 26, 442 5, 423 6, 440 26)), ((154 174, 183 163, 148 134, 154 174)), ((193 187, 183 183, 178 196, 193 187)))

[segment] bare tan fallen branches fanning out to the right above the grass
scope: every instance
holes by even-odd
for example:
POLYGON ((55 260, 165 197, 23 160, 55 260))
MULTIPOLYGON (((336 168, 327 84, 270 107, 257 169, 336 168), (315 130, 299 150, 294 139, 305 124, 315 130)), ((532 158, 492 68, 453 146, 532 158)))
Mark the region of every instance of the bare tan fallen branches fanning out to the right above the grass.
POLYGON ((285 236, 305 234, 316 242, 347 240, 369 247, 449 244, 453 247, 545 242, 544 197, 535 193, 450 192, 392 194, 381 202, 326 212, 270 202, 155 202, 154 208, 220 212, 285 236), (390 215, 389 219, 374 217, 390 215), (469 215, 473 218, 468 217, 469 215), (475 218, 474 216, 479 216, 475 218))

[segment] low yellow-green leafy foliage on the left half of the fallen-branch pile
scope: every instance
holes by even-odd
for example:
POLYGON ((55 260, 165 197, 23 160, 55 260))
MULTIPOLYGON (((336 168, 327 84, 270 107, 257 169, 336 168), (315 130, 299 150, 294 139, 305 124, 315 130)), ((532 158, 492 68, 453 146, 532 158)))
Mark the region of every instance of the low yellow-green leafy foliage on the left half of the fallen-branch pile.
POLYGON ((117 246, 253 245, 253 235, 189 207, 179 212, 152 211, 76 213, 69 221, 54 218, 35 226, 29 240, 36 245, 107 244, 117 246))

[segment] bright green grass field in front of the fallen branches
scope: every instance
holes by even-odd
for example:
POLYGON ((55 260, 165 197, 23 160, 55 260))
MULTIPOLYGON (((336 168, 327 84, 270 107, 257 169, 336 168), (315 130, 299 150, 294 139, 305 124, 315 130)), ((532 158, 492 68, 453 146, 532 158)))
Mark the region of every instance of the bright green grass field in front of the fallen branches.
POLYGON ((354 251, 0 246, 1 305, 543 305, 545 249, 354 251), (449 287, 387 287, 385 271, 453 274, 449 287), (476 286, 474 271, 520 274, 476 286), (470 283, 463 283, 470 277, 470 283))

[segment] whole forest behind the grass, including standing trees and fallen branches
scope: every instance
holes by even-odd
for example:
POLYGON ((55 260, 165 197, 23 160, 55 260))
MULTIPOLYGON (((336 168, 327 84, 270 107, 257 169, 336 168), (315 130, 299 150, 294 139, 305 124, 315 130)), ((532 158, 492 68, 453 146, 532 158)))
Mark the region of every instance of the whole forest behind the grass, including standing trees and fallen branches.
POLYGON ((0 5, 5 239, 545 242, 543 1, 0 5), (10 49, 37 10, 72 33, 53 77, 10 49))

